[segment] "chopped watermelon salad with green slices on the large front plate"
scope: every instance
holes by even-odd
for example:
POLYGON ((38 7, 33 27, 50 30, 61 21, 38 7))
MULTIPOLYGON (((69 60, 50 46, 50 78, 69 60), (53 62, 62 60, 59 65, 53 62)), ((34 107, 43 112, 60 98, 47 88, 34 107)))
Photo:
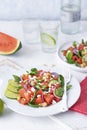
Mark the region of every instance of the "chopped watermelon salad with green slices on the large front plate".
MULTIPOLYGON (((64 77, 56 72, 32 68, 21 76, 13 75, 8 81, 5 96, 31 107, 46 107, 62 99, 64 77), (16 94, 16 95, 12 95, 16 94), (11 94, 11 95, 9 95, 11 94)), ((67 90, 72 85, 67 84, 67 90)))

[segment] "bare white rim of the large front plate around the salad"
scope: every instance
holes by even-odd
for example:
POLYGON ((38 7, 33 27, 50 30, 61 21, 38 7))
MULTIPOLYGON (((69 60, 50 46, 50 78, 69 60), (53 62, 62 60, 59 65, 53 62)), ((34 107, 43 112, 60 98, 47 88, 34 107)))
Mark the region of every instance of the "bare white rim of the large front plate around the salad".
MULTIPOLYGON (((33 66, 35 67, 35 66, 33 66)), ((32 67, 29 68, 29 70, 32 67)), ((36 67, 38 69, 43 69, 43 70, 49 70, 51 72, 58 72, 58 73, 62 73, 62 68, 59 68, 58 66, 40 66, 40 67, 36 67)), ((25 70, 26 71, 26 70, 25 70)), ((24 70, 19 72, 19 71, 15 71, 16 75, 19 74, 23 74, 24 70)), ((62 106, 62 101, 60 101, 59 103, 56 103, 54 105, 48 106, 48 107, 44 107, 44 108, 32 108, 30 106, 27 105, 22 105, 20 103, 18 103, 18 101, 16 100, 12 100, 9 98, 6 98, 4 96, 4 92, 6 89, 6 84, 8 82, 8 79, 11 79, 11 75, 7 76, 7 78, 3 81, 1 88, 0 89, 0 94, 1 94, 1 98, 4 100, 4 102, 6 103, 6 105, 8 106, 8 108, 10 108, 11 110, 23 114, 23 115, 27 115, 27 116, 33 116, 33 117, 38 117, 38 116, 48 116, 48 115, 54 115, 54 114, 58 114, 61 112, 61 106, 62 106)), ((72 76, 71 78, 71 84, 72 84, 72 88, 68 91, 68 107, 70 108, 79 98, 80 96, 80 85, 79 82, 72 76)))

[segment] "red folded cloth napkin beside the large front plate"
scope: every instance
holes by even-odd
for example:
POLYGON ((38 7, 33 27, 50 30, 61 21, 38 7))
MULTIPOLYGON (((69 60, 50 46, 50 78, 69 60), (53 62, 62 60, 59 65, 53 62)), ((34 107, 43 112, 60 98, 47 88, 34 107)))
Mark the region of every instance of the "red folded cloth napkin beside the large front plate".
POLYGON ((70 108, 70 110, 87 114, 87 77, 81 81, 81 94, 78 101, 70 108))

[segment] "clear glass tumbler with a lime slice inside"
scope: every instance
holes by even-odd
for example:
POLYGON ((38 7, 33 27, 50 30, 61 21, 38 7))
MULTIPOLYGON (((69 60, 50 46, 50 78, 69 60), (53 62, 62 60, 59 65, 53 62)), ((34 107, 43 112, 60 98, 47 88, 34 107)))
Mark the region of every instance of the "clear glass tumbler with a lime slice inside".
POLYGON ((43 21, 40 24, 40 39, 42 51, 53 53, 57 50, 58 22, 43 21))

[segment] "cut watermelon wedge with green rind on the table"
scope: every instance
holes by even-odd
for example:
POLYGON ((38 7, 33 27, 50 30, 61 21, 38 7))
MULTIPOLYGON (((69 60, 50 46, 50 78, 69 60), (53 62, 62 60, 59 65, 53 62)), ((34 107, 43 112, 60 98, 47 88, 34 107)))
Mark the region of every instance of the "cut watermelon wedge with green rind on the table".
POLYGON ((21 48, 22 44, 20 40, 0 32, 0 54, 11 55, 16 53, 21 48))

